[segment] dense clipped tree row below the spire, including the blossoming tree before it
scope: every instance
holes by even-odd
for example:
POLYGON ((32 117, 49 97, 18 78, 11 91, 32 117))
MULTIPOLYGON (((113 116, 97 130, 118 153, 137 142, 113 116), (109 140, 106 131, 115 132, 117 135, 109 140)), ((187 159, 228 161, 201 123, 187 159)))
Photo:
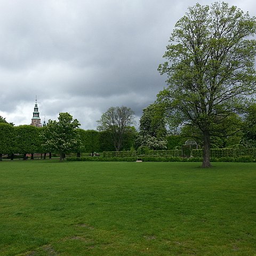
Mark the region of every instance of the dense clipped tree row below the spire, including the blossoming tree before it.
MULTIPOLYGON (((79 122, 69 113, 60 113, 58 121, 49 120, 45 127, 31 125, 13 126, 0 122, 0 161, 3 155, 13 159, 14 154, 57 153, 60 161, 68 153, 114 151, 113 134, 109 130, 95 131, 79 129, 79 122)), ((130 150, 135 138, 135 129, 126 129, 122 135, 121 150, 130 150)))

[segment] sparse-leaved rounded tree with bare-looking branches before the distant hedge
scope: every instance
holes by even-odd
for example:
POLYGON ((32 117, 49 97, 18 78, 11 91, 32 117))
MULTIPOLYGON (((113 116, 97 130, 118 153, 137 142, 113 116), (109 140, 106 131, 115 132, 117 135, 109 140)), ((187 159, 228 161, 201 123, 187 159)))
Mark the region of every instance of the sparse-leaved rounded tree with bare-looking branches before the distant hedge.
POLYGON ((124 134, 135 123, 134 111, 125 106, 110 107, 97 121, 99 131, 108 131, 111 134, 115 150, 123 146, 124 134))

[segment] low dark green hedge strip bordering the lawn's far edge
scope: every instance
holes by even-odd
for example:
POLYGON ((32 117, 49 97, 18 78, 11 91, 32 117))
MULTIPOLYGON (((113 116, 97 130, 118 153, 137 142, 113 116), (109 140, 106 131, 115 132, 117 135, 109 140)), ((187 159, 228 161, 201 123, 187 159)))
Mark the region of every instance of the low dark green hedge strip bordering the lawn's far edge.
MULTIPOLYGON (((203 162, 202 157, 67 157, 67 161, 94 161, 94 162, 203 162)), ((237 162, 237 163, 255 163, 255 158, 251 156, 240 157, 212 157, 211 162, 237 162)))

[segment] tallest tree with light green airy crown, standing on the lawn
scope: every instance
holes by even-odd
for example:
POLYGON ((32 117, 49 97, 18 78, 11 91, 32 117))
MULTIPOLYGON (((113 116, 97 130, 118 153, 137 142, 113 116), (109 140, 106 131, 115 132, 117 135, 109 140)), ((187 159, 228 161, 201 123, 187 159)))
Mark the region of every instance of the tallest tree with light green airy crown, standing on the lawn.
POLYGON ((158 94, 175 124, 198 127, 203 167, 210 167, 210 136, 255 93, 255 17, 236 6, 196 4, 175 25, 159 65, 168 87, 158 94))

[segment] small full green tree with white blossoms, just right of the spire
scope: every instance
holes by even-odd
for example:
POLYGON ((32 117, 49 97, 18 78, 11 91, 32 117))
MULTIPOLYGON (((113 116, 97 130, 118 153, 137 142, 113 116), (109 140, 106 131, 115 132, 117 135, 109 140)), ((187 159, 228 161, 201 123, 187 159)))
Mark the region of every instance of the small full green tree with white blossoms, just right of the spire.
POLYGON ((46 149, 58 152, 60 161, 66 153, 74 150, 78 145, 75 129, 79 126, 77 119, 69 113, 60 113, 58 121, 49 120, 42 130, 42 137, 46 149))

